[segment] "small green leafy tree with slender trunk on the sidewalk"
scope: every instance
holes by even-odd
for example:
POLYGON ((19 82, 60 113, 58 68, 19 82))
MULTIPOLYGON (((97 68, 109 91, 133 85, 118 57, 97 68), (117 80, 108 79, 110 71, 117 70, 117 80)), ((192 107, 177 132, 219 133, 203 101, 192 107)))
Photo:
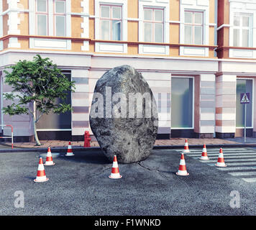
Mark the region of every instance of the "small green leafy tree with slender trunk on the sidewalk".
POLYGON ((3 108, 4 114, 30 114, 35 140, 37 145, 41 145, 37 137, 37 121, 50 111, 55 114, 72 111, 71 105, 64 100, 68 91, 74 91, 74 81, 68 80, 48 57, 42 58, 40 55, 36 55, 32 61, 19 60, 16 65, 6 68, 4 73, 5 83, 12 86, 12 92, 4 93, 4 99, 13 102, 3 108), (57 98, 61 99, 60 103, 56 103, 57 98))

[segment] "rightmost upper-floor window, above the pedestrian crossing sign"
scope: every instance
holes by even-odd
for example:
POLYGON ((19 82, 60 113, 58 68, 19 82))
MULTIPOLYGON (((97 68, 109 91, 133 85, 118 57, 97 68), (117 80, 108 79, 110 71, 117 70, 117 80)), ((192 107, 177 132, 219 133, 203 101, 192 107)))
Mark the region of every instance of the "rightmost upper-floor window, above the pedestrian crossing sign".
POLYGON ((252 17, 250 14, 234 14, 233 46, 252 46, 252 17))

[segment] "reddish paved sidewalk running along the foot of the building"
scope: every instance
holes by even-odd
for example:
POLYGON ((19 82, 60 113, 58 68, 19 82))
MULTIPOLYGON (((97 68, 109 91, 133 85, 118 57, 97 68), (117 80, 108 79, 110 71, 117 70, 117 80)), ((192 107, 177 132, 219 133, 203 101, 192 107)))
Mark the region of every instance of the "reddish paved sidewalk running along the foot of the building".
MULTIPOLYGON (((256 138, 247 137, 247 142, 244 143, 243 137, 236 137, 230 139, 217 138, 187 138, 189 147, 201 147, 206 144, 207 147, 256 147, 256 138)), ((171 139, 157 139, 155 141, 155 149, 178 149, 183 148, 186 138, 171 138, 171 139)), ((68 141, 47 140, 40 141, 41 145, 36 146, 35 142, 18 142, 14 143, 14 149, 9 142, 0 142, 0 152, 25 152, 25 151, 42 151, 50 147, 55 150, 65 150, 68 147, 68 141)), ((99 149, 98 142, 91 142, 91 148, 84 148, 83 142, 71 142, 73 149, 99 149)))

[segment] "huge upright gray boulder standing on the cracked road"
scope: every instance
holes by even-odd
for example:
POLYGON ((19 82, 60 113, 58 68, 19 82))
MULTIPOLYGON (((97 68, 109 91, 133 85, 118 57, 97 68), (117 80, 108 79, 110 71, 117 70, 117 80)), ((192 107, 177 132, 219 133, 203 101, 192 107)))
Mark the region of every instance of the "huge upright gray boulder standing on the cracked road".
POLYGON ((97 81, 90 126, 110 162, 114 155, 121 163, 138 162, 150 155, 157 137, 157 105, 150 86, 137 70, 122 65, 97 81))

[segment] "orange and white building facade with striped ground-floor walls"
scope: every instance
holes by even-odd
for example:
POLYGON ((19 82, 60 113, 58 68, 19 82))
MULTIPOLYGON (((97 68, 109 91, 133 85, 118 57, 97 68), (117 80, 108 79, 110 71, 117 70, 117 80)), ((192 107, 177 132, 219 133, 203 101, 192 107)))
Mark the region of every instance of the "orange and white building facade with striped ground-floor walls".
MULTIPOLYGON (((36 54, 76 81, 73 112, 48 114, 40 139, 82 140, 96 81, 132 65, 158 103, 158 138, 242 136, 239 93, 251 93, 247 128, 256 134, 255 0, 0 0, 0 78, 36 54), (255 124, 255 126, 254 126, 255 124)), ((16 141, 33 138, 32 118, 6 116, 16 141)))

